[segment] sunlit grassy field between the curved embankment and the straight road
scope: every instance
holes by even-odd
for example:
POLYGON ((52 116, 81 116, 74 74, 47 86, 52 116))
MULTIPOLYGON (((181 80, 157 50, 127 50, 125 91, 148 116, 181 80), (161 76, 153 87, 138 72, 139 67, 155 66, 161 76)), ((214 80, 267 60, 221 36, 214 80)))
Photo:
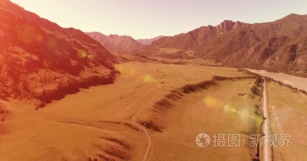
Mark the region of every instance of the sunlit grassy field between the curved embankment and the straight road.
MULTIPOLYGON (((259 134, 262 122, 262 118, 255 113, 255 105, 260 104, 259 96, 250 93, 253 83, 254 79, 222 81, 220 86, 185 95, 176 101, 174 106, 161 114, 163 132, 151 134, 154 143, 149 160, 257 158, 257 148, 249 147, 249 135, 259 134), (215 133, 226 134, 226 137, 228 134, 240 134, 240 147, 213 147, 211 143, 206 148, 200 148, 195 144, 195 136, 202 132, 209 134, 211 140, 215 133)), ((145 111, 143 115, 146 113, 150 111, 145 111)))

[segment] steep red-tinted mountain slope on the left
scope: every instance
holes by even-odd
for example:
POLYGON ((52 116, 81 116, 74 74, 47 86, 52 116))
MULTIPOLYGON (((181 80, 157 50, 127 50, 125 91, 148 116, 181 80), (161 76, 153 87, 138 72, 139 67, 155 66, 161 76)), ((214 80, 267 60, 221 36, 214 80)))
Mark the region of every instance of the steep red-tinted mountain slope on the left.
POLYGON ((114 56, 96 40, 8 0, 0 1, 0 50, 0 99, 49 103, 113 83, 116 73, 114 56))

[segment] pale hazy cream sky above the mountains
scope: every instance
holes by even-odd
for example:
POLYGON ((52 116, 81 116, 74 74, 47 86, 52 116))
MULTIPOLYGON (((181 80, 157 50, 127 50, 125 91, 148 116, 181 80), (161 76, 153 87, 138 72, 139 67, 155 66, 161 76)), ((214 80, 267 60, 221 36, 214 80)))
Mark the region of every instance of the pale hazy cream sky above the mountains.
POLYGON ((306 0, 11 0, 62 27, 135 39, 173 36, 223 20, 271 22, 307 14, 306 0))

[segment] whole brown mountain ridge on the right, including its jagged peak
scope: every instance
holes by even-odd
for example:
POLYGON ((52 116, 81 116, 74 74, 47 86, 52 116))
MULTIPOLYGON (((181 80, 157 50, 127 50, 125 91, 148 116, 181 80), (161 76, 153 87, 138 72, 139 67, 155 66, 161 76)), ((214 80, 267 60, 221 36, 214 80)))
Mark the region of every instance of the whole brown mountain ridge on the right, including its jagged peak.
POLYGON ((191 50, 198 58, 213 59, 224 66, 307 76, 306 26, 307 15, 296 14, 268 23, 247 24, 226 20, 217 26, 163 37, 136 53, 161 48, 191 50))

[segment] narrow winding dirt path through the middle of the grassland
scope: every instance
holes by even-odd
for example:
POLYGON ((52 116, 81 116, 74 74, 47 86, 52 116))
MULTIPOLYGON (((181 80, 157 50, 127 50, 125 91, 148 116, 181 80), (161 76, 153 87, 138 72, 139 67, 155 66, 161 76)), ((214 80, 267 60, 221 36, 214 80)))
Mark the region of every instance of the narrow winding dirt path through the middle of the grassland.
POLYGON ((146 148, 146 151, 143 155, 143 161, 145 161, 147 159, 147 155, 149 153, 149 150, 150 150, 150 145, 151 145, 151 138, 149 136, 149 133, 146 129, 146 127, 142 126, 141 124, 139 124, 137 122, 137 119, 136 119, 136 116, 137 114, 139 114, 144 108, 146 108, 151 102, 153 102, 156 98, 156 96, 161 92, 162 88, 154 95, 154 97, 152 97, 152 99, 150 101, 147 102, 147 104, 145 104, 137 113, 135 113, 132 117, 132 122, 135 123, 140 129, 142 129, 142 131, 145 132, 146 136, 147 136, 147 139, 148 139, 148 143, 147 143, 147 148, 146 148))

